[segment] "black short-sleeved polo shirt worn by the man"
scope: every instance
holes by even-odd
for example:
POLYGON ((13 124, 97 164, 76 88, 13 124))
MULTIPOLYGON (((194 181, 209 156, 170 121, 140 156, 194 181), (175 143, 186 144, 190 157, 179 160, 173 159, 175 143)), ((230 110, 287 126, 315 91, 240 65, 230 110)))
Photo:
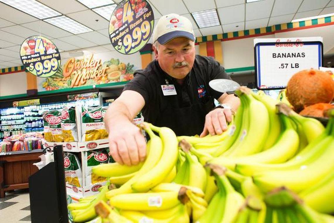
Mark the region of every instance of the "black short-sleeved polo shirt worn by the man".
POLYGON ((230 79, 212 57, 196 55, 193 68, 182 85, 154 60, 144 70, 137 70, 124 90, 134 90, 143 96, 145 122, 167 126, 177 135, 195 135, 201 133, 205 115, 214 107, 213 98, 222 95, 209 87, 210 80, 219 78, 230 79), (175 86, 176 95, 163 94, 161 85, 166 84, 175 86))

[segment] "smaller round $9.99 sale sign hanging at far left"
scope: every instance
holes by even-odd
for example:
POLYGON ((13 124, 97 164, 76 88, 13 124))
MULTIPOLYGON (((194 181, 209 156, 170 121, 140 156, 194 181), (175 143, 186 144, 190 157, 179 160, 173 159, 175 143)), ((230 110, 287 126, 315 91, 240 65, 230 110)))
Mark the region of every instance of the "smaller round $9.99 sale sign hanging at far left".
POLYGON ((20 48, 20 57, 24 68, 38 77, 50 77, 60 67, 60 53, 47 38, 30 36, 20 48))

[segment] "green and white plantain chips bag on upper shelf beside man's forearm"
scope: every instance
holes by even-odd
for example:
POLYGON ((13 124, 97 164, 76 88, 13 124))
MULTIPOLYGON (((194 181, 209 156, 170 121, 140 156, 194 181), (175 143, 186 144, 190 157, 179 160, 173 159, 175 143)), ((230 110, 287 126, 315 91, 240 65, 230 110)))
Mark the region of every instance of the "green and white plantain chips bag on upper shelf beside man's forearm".
POLYGON ((88 107, 87 109, 82 107, 82 141, 93 141, 108 138, 108 132, 103 122, 104 114, 105 109, 101 106, 88 107))

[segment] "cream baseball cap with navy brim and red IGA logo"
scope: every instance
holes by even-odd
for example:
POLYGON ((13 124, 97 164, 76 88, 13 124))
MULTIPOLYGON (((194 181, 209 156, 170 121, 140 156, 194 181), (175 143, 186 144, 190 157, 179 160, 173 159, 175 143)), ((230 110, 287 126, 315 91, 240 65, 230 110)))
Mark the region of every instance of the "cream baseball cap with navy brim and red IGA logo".
POLYGON ((195 33, 189 19, 172 13, 162 16, 153 32, 153 42, 158 41, 164 45, 176 37, 185 37, 195 41, 195 33))

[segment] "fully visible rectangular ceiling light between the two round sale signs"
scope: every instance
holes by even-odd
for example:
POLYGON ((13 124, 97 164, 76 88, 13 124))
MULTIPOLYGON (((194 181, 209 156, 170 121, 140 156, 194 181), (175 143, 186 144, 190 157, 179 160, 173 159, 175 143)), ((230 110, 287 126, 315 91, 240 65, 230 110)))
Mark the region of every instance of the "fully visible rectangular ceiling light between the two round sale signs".
POLYGON ((73 19, 68 18, 67 16, 64 15, 57 16, 54 18, 44 19, 44 21, 52 25, 55 25, 61 29, 64 29, 68 32, 71 32, 73 34, 93 31, 93 29, 90 29, 87 26, 84 26, 81 23, 78 23, 77 21, 74 21, 73 19))

